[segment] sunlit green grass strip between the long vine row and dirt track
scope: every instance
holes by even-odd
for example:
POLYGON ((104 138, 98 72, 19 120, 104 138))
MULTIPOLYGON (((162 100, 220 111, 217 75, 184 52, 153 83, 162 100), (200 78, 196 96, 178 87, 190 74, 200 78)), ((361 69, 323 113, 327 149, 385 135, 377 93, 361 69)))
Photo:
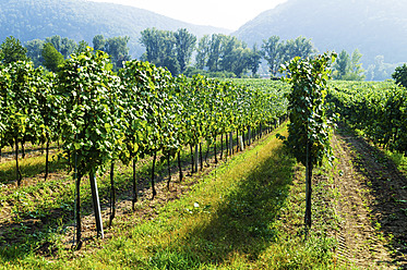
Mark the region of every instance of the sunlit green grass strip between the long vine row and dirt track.
MULTIPOLYGON (((286 130, 278 131, 286 133, 286 130)), ((320 174, 330 177, 330 169, 320 174)), ((0 253, 3 269, 334 269, 334 193, 314 187, 314 226, 303 237, 304 181, 275 133, 229 159, 148 219, 118 217, 113 237, 56 257, 0 253), (299 177, 295 177, 299 175, 299 177), (331 206, 331 205, 330 205, 331 206), (332 207, 332 206, 331 206, 332 207)), ((189 181, 194 181, 190 179, 189 181)), ((140 202, 139 207, 148 207, 140 202)), ((58 244, 58 234, 55 234, 58 244), (56 236, 57 235, 57 236, 56 236)), ((9 253, 11 253, 9 250, 9 253)))

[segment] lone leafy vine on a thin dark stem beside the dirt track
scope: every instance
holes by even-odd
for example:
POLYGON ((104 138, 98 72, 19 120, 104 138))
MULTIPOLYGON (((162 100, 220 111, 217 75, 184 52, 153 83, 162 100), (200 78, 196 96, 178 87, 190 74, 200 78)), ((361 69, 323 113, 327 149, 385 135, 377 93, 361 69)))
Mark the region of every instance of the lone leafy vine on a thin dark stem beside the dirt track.
POLYGON ((289 135, 288 138, 284 138, 284 144, 307 168, 306 232, 311 228, 312 169, 321 164, 324 157, 332 157, 331 128, 324 99, 331 73, 328 65, 335 58, 335 53, 325 53, 314 59, 296 57, 282 66, 282 72, 288 73, 286 81, 291 84, 292 89, 288 96, 289 135))

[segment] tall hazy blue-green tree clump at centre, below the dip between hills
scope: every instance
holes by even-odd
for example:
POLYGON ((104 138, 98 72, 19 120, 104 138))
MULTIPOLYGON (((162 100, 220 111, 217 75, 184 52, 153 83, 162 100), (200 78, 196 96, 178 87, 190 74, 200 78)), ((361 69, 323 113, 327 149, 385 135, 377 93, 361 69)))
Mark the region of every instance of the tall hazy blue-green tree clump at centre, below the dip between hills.
POLYGON ((271 73, 276 75, 280 63, 316 52, 311 39, 304 37, 279 42, 279 37, 275 36, 263 40, 261 48, 258 45, 249 48, 237 37, 223 34, 205 35, 199 40, 187 29, 147 28, 141 34, 140 41, 146 48, 142 60, 167 66, 172 74, 242 77, 251 73, 256 76, 262 59, 265 59, 271 73), (195 61, 191 65, 193 54, 195 61))

